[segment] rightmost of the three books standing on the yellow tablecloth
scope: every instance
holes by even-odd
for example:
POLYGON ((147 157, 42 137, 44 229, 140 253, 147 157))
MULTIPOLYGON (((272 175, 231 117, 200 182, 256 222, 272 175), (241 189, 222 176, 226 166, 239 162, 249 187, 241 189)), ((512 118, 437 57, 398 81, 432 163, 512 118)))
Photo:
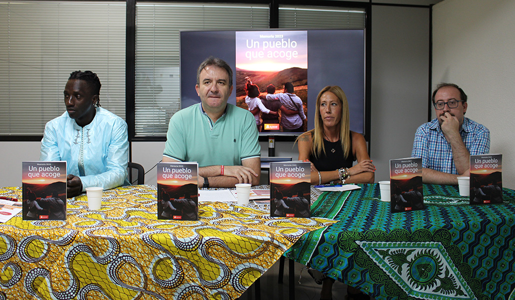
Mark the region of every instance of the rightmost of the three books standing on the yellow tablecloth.
POLYGON ((311 163, 270 163, 270 216, 311 217, 311 163))

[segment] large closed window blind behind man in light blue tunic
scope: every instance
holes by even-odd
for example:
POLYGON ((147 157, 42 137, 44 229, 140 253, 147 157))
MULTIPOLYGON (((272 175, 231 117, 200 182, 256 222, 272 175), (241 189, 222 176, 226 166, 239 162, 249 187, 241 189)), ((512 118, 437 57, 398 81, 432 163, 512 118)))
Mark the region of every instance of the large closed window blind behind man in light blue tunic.
POLYGON ((41 135, 65 111, 74 70, 100 78, 100 104, 125 118, 123 2, 0 1, 0 135, 41 135))

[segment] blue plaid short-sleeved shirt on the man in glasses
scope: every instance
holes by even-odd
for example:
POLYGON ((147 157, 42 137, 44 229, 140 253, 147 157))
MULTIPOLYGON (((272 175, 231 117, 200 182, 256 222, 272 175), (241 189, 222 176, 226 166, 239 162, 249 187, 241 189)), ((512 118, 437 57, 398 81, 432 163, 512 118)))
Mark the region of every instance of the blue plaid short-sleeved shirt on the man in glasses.
MULTIPOLYGON (((490 131, 469 118, 464 118, 459 131, 470 155, 490 151, 490 131)), ((457 174, 451 144, 443 135, 437 119, 422 124, 415 133, 412 157, 422 157, 422 167, 440 172, 457 174)))

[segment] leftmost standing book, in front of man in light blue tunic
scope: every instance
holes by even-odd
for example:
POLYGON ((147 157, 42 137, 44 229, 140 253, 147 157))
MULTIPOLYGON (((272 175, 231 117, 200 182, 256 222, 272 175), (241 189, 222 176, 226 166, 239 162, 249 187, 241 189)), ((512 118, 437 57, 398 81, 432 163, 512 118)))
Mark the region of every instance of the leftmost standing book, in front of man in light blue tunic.
POLYGON ((66 162, 22 162, 23 220, 66 220, 66 162))

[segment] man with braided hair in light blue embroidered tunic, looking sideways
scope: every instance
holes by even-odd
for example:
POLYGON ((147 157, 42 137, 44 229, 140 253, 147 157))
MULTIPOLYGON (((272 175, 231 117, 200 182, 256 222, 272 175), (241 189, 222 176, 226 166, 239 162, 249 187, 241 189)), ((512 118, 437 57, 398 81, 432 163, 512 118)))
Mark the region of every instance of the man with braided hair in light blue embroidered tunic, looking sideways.
POLYGON ((100 107, 100 80, 75 71, 64 87, 66 112, 45 125, 40 161, 66 161, 66 197, 90 186, 125 184, 129 142, 127 123, 100 107))

